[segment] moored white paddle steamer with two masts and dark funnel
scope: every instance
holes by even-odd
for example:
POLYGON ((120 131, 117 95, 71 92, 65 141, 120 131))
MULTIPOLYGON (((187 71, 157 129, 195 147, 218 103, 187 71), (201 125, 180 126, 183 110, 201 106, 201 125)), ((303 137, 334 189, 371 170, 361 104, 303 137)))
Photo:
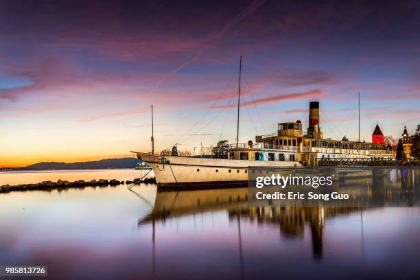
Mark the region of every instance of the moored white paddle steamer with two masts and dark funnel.
MULTIPOLYGON (((240 124, 240 89, 242 58, 240 60, 237 139, 240 124)), ((152 107, 153 112, 153 107, 152 107)), ((153 124, 153 113, 152 113, 153 124)), ((383 141, 382 141, 383 142, 383 141)), ((246 185, 248 170, 253 167, 301 168, 316 166, 318 159, 386 158, 393 153, 384 143, 339 141, 324 139, 320 129, 319 102, 310 102, 309 127, 303 132, 301 121, 278 124, 270 135, 257 135, 255 143, 229 145, 224 158, 209 156, 171 156, 136 152, 137 157, 152 167, 158 187, 211 187, 213 185, 246 185)))

